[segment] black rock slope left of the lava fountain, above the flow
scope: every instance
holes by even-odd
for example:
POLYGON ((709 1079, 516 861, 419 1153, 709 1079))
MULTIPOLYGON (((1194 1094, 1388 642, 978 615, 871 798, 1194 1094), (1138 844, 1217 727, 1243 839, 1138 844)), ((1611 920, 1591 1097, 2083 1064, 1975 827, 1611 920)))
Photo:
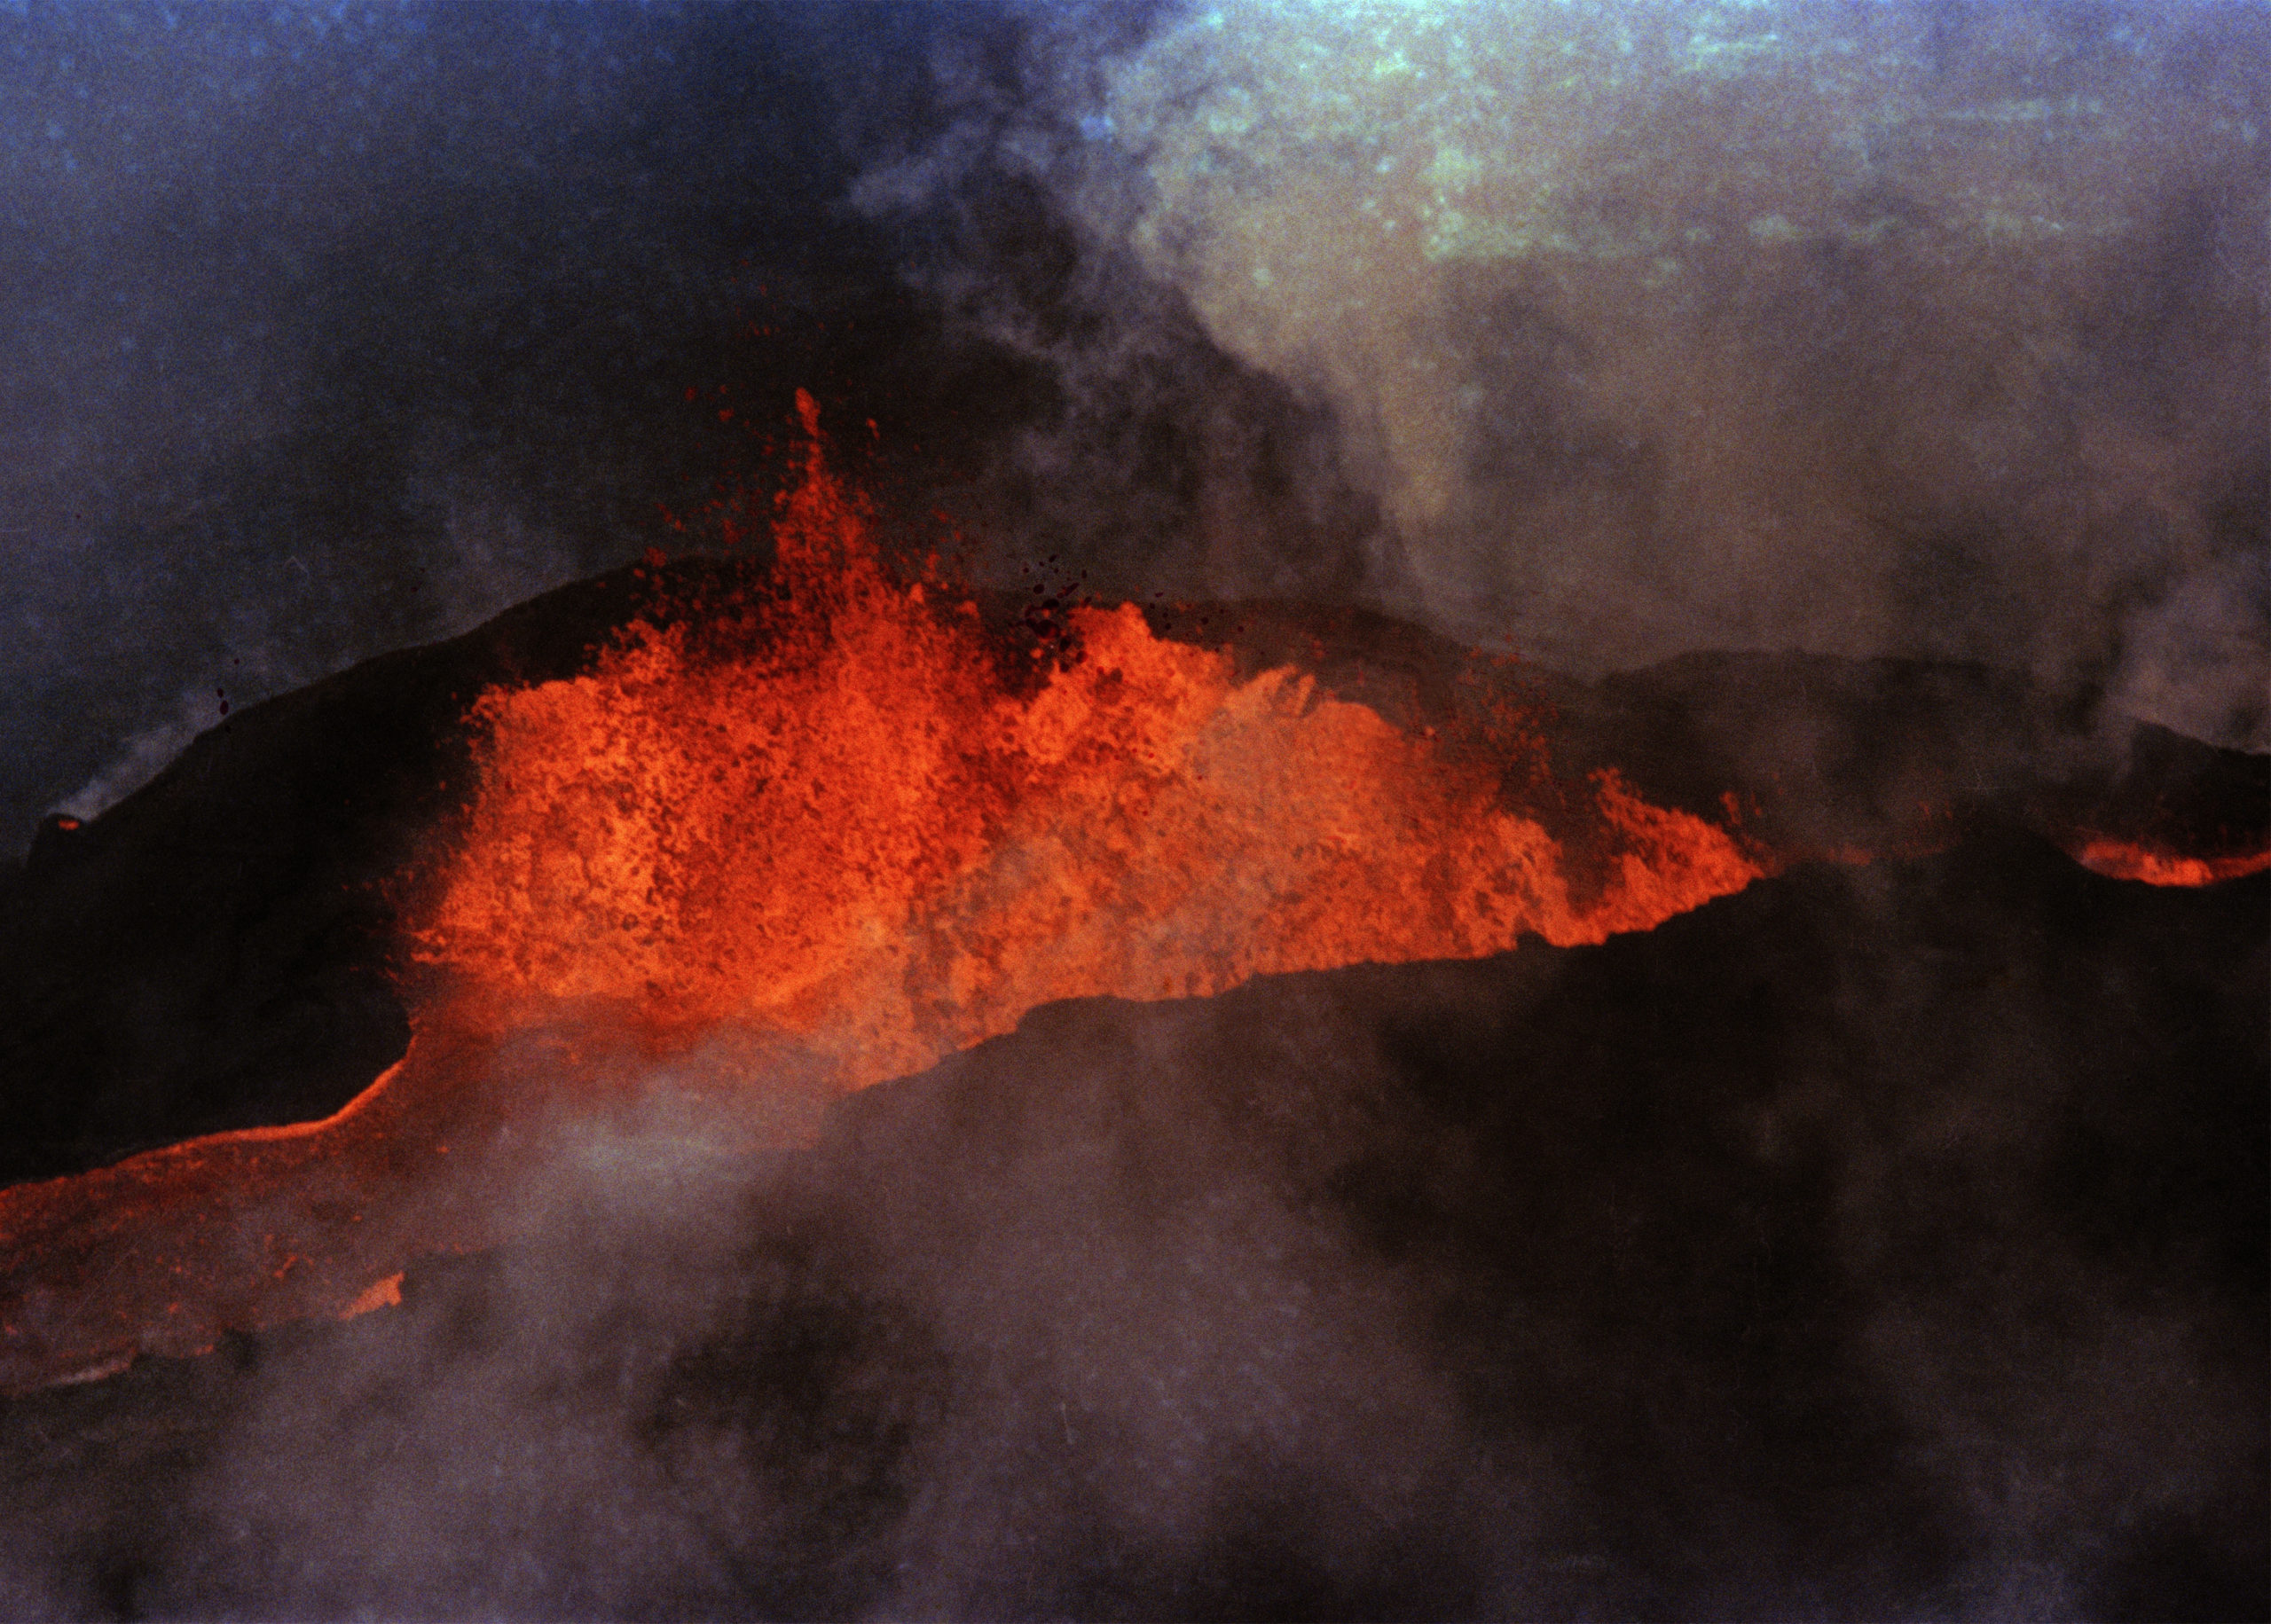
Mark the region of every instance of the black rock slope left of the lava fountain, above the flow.
POLYGON ((572 675, 654 597, 645 568, 565 586, 250 706, 86 824, 50 818, 0 886, 0 1183, 320 1117, 397 1061, 388 884, 470 786, 466 706, 572 675))

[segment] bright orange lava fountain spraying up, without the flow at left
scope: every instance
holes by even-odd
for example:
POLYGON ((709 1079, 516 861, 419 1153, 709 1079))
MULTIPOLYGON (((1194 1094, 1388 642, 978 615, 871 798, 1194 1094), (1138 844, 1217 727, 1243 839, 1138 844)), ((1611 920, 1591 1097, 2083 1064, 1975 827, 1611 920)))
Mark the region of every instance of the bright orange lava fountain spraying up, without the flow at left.
POLYGON ((1126 604, 1004 672, 972 606, 886 577, 806 429, 777 597, 475 706, 479 800, 416 940, 491 1024, 606 999, 659 1038, 781 1033, 861 1086, 1051 999, 1597 943, 1760 874, 1603 775, 1608 884, 1581 895, 1501 802, 1506 740, 1238 681, 1126 604))

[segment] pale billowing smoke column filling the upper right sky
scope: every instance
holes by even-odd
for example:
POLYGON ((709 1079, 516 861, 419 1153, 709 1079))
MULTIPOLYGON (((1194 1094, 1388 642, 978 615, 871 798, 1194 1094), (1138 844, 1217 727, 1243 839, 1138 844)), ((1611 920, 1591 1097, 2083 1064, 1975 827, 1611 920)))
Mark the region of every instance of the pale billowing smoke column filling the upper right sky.
POLYGON ((1576 668, 1989 659, 2271 743, 2260 7, 1285 0, 1092 41, 1038 36, 1054 125, 963 136, 1331 411, 1392 606, 1576 668))

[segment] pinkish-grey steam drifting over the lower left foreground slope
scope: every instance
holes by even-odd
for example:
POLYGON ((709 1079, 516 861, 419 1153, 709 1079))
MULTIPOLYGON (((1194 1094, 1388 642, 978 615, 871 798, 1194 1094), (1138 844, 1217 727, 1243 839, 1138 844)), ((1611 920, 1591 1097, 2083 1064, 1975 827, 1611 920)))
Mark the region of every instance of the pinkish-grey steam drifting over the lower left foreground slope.
POLYGON ((129 1472, 18 1506, 0 1599, 1002 1617, 1111 1574, 1099 1535, 1131 1597, 1208 1567, 1242 1594, 1213 1547, 1272 1499, 1304 1506, 1322 1569, 1440 1542, 1444 1490, 1492 1470, 1392 1272, 1181 1120, 1181 1079, 1129 1138, 1111 1079, 1033 1045, 1015 1063, 1072 1099, 1049 1113, 1072 1133, 1011 1149, 992 1188, 917 1140, 734 1154, 752 1097, 779 1083, 802 1111, 763 1068, 731 1099, 686 1093, 684 1068, 622 1077, 638 1104, 534 1122, 545 1154, 486 1192, 513 1245, 427 1258, 402 1306, 345 1326, 98 1390, 166 1406, 168 1383, 218 1383, 164 1513, 129 1472))

